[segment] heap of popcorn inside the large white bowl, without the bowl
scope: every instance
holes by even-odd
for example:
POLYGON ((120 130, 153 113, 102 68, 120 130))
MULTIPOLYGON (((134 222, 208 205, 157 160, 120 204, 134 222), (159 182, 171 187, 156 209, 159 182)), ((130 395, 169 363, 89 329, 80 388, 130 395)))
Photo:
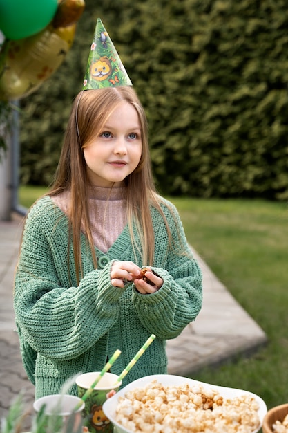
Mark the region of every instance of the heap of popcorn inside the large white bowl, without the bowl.
POLYGON ((251 433, 260 427, 258 403, 249 394, 224 399, 200 384, 157 380, 120 396, 116 421, 133 433, 251 433))

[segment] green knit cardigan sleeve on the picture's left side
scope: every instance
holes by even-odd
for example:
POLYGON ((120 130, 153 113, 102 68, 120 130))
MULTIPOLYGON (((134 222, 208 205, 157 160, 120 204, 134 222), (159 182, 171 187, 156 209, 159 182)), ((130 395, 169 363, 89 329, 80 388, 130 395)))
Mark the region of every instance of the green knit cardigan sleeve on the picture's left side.
POLYGON ((79 286, 64 286, 69 278, 61 229, 55 222, 49 225, 45 212, 37 218, 35 213, 26 222, 15 274, 16 322, 21 339, 33 350, 70 360, 115 324, 124 289, 111 285, 111 261, 86 273, 79 286))

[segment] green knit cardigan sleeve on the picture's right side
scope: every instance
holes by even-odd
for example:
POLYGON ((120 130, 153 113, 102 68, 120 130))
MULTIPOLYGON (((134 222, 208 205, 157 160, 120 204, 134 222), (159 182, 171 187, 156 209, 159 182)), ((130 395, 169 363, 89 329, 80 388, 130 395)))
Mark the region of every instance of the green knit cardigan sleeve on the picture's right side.
MULTIPOLYGON (((135 311, 143 326, 158 338, 170 339, 179 335, 184 327, 195 320, 202 307, 202 272, 186 241, 177 210, 168 217, 172 245, 164 266, 152 267, 163 279, 162 287, 150 295, 133 294, 135 311), (181 248, 177 248, 178 246, 181 248)), ((156 233, 155 255, 164 255, 164 228, 156 233)))

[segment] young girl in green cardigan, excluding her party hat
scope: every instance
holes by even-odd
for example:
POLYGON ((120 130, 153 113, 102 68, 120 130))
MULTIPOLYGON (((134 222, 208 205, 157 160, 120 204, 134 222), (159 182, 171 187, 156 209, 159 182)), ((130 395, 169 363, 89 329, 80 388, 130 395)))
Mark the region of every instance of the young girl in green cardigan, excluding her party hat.
POLYGON ((137 95, 129 86, 81 91, 52 189, 28 213, 15 275, 35 397, 100 371, 116 349, 111 371, 120 374, 151 333, 155 341, 123 386, 165 374, 165 340, 195 320, 201 304, 202 275, 180 217, 155 192, 137 95))

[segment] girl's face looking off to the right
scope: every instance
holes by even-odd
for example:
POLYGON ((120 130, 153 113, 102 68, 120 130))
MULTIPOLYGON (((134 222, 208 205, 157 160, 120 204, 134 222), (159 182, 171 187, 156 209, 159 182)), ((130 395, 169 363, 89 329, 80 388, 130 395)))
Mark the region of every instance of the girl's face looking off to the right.
POLYGON ((92 185, 121 185, 135 170, 142 154, 142 131, 135 108, 121 102, 83 152, 92 185))

